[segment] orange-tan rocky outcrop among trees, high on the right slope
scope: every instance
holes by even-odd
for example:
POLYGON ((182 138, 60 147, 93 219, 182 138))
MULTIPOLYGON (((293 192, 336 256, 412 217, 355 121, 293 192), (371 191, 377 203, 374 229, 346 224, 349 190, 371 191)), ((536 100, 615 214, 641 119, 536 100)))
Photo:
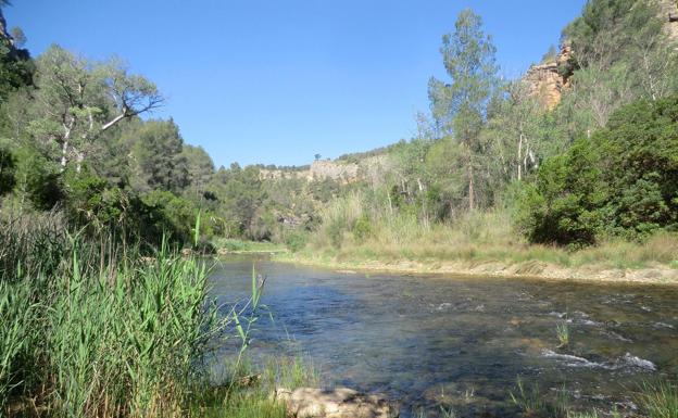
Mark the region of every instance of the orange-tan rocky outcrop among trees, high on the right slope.
POLYGON ((530 94, 538 97, 548 110, 553 110, 561 103, 563 89, 569 86, 568 79, 558 72, 572 56, 569 45, 563 45, 555 60, 539 65, 532 65, 523 80, 529 86, 530 94))

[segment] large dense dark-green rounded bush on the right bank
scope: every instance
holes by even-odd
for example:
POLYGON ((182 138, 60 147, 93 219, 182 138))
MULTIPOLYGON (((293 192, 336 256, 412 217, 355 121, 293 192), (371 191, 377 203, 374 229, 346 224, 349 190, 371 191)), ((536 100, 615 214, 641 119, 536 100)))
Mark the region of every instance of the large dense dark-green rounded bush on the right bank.
POLYGON ((606 129, 544 162, 517 223, 530 242, 575 246, 678 229, 678 96, 622 107, 606 129))

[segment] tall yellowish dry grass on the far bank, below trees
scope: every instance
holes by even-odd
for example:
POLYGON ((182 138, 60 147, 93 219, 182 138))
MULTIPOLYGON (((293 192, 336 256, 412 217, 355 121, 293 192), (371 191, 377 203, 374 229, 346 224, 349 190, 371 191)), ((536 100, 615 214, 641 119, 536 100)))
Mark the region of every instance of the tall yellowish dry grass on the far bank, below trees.
POLYGON ((414 261, 425 265, 503 263, 516 265, 525 274, 539 273, 543 265, 607 269, 678 263, 676 233, 657 233, 643 242, 611 238, 595 246, 568 251, 529 244, 514 229, 510 212, 502 208, 461 213, 445 223, 428 223, 415 214, 375 207, 356 192, 330 202, 321 217, 323 223, 300 251, 301 257, 356 263, 414 261))

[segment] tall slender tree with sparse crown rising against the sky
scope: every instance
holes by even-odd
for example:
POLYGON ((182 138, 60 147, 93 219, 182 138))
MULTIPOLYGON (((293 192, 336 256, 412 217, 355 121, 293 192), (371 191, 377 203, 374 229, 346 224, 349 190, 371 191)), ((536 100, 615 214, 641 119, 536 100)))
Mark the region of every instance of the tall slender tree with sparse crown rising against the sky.
POLYGON ((437 128, 461 145, 465 166, 468 208, 475 208, 475 166, 480 153, 479 135, 487 102, 495 83, 495 48, 482 31, 480 16, 470 10, 460 13, 455 31, 442 37, 443 64, 451 84, 435 77, 429 81, 429 99, 437 128))

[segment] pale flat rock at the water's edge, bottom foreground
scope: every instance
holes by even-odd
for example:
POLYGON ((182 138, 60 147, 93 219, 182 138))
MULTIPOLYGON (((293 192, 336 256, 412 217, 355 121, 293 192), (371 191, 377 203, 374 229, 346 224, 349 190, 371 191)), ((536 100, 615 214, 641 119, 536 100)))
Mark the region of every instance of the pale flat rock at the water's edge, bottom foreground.
POLYGON ((382 397, 364 395, 352 389, 322 390, 277 389, 276 400, 285 402, 290 417, 296 418, 394 418, 397 408, 382 397))

